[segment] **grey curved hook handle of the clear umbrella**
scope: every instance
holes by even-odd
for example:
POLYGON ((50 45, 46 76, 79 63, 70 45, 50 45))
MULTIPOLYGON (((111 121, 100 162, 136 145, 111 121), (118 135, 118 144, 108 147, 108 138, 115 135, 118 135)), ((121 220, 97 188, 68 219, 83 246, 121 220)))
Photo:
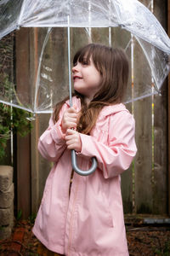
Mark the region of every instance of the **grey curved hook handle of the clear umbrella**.
POLYGON ((92 166, 90 167, 90 169, 88 171, 82 171, 81 169, 79 169, 77 166, 77 154, 74 149, 71 149, 71 161, 72 161, 73 170, 82 176, 88 176, 88 175, 92 174, 98 166, 96 158, 93 157, 92 158, 92 166))

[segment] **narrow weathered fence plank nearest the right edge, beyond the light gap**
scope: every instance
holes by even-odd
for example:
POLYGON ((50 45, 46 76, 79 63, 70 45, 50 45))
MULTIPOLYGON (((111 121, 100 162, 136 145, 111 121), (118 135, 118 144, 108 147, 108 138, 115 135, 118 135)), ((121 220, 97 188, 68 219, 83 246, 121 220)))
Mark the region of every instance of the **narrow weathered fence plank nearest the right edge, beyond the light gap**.
MULTIPOLYGON (((167 27, 167 4, 155 0, 154 15, 167 27)), ((161 96, 154 97, 154 198, 153 212, 167 212, 167 81, 162 85, 161 96)))

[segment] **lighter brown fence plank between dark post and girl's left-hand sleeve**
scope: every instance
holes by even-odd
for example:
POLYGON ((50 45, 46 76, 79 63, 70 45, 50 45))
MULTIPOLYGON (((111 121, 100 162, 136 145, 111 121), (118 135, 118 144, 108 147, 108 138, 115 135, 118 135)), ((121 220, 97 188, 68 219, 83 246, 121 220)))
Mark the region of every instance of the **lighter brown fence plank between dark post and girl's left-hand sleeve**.
MULTIPOLYGON (((32 90, 35 90, 37 84, 37 69, 40 61, 43 39, 47 29, 34 28, 30 32, 30 66, 31 66, 31 84, 32 90)), ((45 179, 50 170, 50 164, 47 160, 43 160, 37 150, 38 138, 42 132, 48 127, 48 114, 37 114, 36 119, 32 122, 33 129, 31 131, 31 212, 36 213, 39 207, 42 190, 44 188, 45 179)))

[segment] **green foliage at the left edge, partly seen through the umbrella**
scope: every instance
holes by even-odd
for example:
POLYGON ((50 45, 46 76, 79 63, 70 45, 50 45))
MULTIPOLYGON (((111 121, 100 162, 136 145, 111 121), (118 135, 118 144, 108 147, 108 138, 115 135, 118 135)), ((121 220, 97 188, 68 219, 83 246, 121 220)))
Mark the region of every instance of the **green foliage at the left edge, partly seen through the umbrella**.
MULTIPOLYGON (((22 104, 16 96, 14 86, 14 33, 9 34, 0 41, 0 95, 4 102, 17 100, 20 107, 22 104)), ((12 108, 0 103, 0 160, 5 155, 8 139, 13 134, 26 136, 31 131, 30 113, 12 108)))

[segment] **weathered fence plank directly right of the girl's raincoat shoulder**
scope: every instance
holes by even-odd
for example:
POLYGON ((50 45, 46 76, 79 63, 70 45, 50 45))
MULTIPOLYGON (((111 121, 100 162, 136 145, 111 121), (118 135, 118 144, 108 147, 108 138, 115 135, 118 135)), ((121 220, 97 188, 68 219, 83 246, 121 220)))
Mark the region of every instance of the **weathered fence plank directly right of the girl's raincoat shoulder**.
MULTIPOLYGON (((150 69, 143 50, 134 43, 134 95, 135 90, 151 85, 150 69)), ((152 212, 152 97, 133 103, 136 120, 138 153, 134 161, 135 212, 152 212)))

